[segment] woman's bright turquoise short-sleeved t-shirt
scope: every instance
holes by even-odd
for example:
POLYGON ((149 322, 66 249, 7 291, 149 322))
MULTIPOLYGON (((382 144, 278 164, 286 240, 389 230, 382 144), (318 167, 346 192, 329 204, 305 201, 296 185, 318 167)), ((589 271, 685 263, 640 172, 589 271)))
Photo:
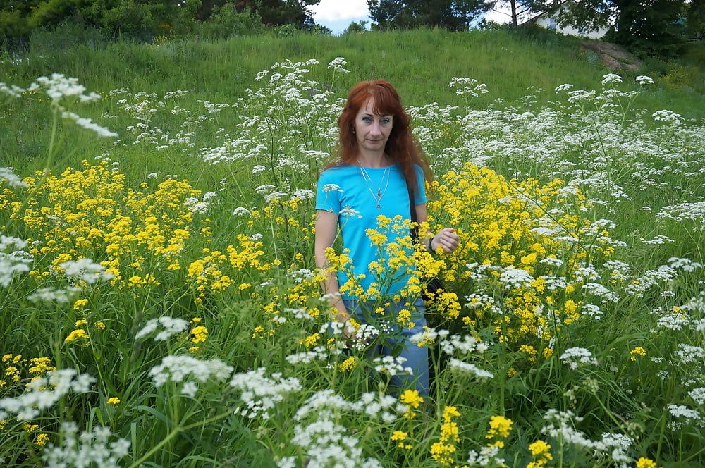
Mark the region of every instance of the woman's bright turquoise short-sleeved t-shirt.
MULTIPOLYGON (((415 165, 417 190, 415 204, 426 203, 426 190, 424 187, 424 171, 415 165)), ((318 179, 316 194, 316 209, 331 211, 338 214, 338 226, 341 228, 343 248, 350 250, 350 259, 353 260, 353 273, 355 276, 364 274, 365 278, 359 284, 367 292, 372 282, 379 285, 383 295, 396 294, 404 288, 407 276, 403 271, 394 276, 394 281, 383 288, 383 278, 376 278, 368 269, 372 261, 379 261, 381 252, 379 247, 372 245, 367 236, 367 229, 377 228, 377 216, 384 215, 393 219, 401 215, 404 219, 411 218, 409 209, 409 192, 406 180, 400 166, 395 164, 385 171, 385 168, 364 168, 369 175, 369 180, 362 176, 359 166, 341 165, 328 168, 321 173, 318 179), (381 192, 382 198, 377 208, 374 195, 381 192), (402 273, 402 274, 399 274, 402 273)), ((386 233, 386 232, 385 232, 386 233)), ((409 235, 409 230, 399 231, 398 235, 409 235)), ((389 242, 393 242, 389 238, 389 242)), ((409 252, 411 253, 411 252, 409 252)), ((338 271, 338 284, 344 285, 348 275, 338 271)), ((343 299, 362 299, 351 293, 341 294, 343 299)))

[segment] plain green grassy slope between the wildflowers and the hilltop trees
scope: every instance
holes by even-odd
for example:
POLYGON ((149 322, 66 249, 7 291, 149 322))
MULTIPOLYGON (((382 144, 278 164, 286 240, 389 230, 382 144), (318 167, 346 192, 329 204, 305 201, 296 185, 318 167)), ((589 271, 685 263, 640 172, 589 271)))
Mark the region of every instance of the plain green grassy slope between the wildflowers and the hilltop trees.
MULTIPOLYGON (((159 46, 118 43, 100 50, 75 47, 53 56, 30 55, 18 66, 5 62, 0 65, 0 80, 20 84, 59 72, 78 77, 95 90, 180 88, 209 99, 232 99, 242 94, 257 71, 275 61, 318 58, 322 62, 343 56, 353 70, 347 85, 384 78, 398 87, 407 104, 450 104, 455 102, 446 87, 450 78, 468 76, 489 87, 490 93, 477 103, 481 106, 497 97, 518 99, 532 86, 551 90, 565 82, 576 87, 599 85, 607 70, 591 53, 581 51, 579 43, 548 32, 537 36, 505 30, 370 32, 346 37, 266 35, 159 46)), ((697 59, 699 51, 692 48, 687 55, 697 59)), ((672 88, 656 89, 639 104, 705 116, 703 89, 687 93, 672 88)))

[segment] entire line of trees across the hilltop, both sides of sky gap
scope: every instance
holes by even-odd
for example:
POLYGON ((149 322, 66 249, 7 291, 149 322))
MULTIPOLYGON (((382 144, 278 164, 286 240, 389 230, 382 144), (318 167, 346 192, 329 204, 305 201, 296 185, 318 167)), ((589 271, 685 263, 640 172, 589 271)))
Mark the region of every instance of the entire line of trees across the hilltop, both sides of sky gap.
MULTIPOLYGON (((341 0, 343 1, 343 0, 341 0)), ((123 35, 228 37, 288 25, 330 32, 314 23, 320 0, 0 0, 0 44, 61 23, 123 35)), ((587 31, 611 25, 608 40, 646 54, 672 55, 688 38, 705 35, 705 0, 367 0, 373 29, 482 25, 491 10, 522 16, 556 13, 558 24, 587 31)), ((364 23, 362 23, 364 26, 364 23)), ((364 27, 351 25, 350 31, 364 27), (357 26, 357 27, 352 27, 357 26)))

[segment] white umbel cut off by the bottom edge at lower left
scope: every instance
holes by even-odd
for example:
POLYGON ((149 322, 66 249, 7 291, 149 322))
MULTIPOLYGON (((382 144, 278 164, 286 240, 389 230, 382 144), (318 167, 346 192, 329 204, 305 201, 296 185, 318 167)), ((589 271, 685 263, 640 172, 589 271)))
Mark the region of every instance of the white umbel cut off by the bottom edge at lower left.
POLYGON ((119 468, 120 460, 129 454, 130 441, 115 438, 104 426, 78 434, 75 423, 65 422, 59 433, 61 445, 51 444, 42 452, 44 466, 48 468, 119 468))

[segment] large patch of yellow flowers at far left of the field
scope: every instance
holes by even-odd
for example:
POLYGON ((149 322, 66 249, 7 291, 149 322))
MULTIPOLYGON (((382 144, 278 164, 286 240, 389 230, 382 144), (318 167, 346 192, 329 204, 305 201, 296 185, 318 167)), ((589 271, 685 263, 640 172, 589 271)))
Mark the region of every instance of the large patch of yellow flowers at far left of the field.
MULTIPOLYGON (((0 192, 0 210, 30 229, 30 241, 37 241, 30 253, 55 256, 51 271, 85 252, 104 259, 120 287, 158 285, 157 272, 180 269, 180 252, 192 235, 193 214, 185 200, 200 196, 188 182, 169 179, 152 192, 133 190, 108 161, 82 161, 80 169, 58 176, 39 171, 23 181, 24 193, 0 192)), ((145 183, 141 187, 147 189, 145 183)), ((32 276, 46 278, 48 272, 32 276)), ((74 307, 85 306, 82 301, 74 307)))

